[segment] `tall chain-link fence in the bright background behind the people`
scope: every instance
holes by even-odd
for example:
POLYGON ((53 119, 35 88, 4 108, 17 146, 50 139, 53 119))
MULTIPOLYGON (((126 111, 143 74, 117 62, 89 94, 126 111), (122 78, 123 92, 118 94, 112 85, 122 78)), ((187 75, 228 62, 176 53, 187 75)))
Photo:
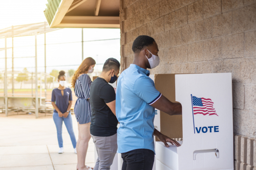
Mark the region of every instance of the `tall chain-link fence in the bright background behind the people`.
POLYGON ((59 86, 60 70, 66 71, 67 87, 72 90, 73 113, 77 98, 71 79, 81 61, 95 59, 95 70, 89 74, 93 80, 106 59, 120 58, 119 49, 119 29, 59 30, 35 23, 0 30, 0 113, 52 115, 51 94, 59 86), (96 50, 99 46, 101 50, 96 50))

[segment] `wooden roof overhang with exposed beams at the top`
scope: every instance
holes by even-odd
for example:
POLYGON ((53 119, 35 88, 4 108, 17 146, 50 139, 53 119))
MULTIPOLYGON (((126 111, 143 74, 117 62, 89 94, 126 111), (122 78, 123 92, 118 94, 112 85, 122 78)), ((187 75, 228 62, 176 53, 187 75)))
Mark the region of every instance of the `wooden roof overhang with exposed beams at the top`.
POLYGON ((119 0, 48 0, 50 28, 120 28, 119 0))

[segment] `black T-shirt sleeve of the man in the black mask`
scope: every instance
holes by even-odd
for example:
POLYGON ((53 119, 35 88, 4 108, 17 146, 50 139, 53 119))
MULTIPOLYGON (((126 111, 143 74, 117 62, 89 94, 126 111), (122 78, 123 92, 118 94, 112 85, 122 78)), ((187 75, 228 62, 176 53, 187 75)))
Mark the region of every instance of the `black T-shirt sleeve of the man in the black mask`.
POLYGON ((103 99, 105 103, 113 102, 116 100, 115 89, 111 85, 106 84, 101 87, 99 97, 103 99))

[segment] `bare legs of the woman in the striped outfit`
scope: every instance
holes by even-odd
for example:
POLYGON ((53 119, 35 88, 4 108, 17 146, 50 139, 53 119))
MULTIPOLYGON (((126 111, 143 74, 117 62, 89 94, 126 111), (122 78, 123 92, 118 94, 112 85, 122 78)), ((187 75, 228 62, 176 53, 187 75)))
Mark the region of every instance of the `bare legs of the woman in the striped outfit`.
POLYGON ((78 124, 78 148, 77 149, 77 169, 78 170, 84 170, 88 169, 86 167, 86 154, 87 154, 87 149, 88 149, 88 144, 89 140, 91 138, 90 134, 90 125, 91 123, 88 124, 78 124), (80 136, 80 138, 79 138, 80 136))

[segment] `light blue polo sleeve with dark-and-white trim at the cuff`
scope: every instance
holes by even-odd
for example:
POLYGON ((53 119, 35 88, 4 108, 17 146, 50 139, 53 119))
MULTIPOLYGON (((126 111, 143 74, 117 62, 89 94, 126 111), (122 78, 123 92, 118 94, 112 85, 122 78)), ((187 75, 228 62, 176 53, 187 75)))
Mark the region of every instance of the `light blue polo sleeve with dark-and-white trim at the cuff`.
POLYGON ((154 82, 146 77, 140 77, 135 81, 133 92, 149 105, 161 97, 161 93, 156 89, 154 82))

